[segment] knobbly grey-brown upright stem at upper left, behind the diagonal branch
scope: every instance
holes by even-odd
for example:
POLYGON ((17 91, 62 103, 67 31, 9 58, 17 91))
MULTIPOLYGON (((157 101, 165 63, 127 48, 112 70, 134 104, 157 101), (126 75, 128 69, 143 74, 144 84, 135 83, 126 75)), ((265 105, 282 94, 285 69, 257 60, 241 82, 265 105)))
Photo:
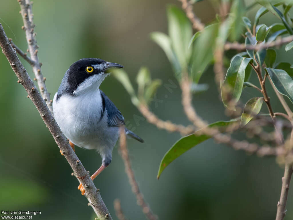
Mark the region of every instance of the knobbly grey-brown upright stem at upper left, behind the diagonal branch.
POLYGON ((23 19, 24 26, 22 27, 25 30, 26 40, 28 42, 28 52, 30 53, 30 58, 33 60, 33 64, 31 64, 33 68, 33 72, 35 74, 35 78, 38 83, 38 87, 40 89, 41 95, 43 99, 46 100, 46 104, 53 114, 52 101, 50 100, 50 93, 47 91, 47 87, 45 84, 45 78, 42 75, 41 71, 41 63, 39 62, 38 57, 38 45, 35 40, 34 28, 33 24, 33 13, 32 13, 32 4, 30 0, 18 0, 21 8, 21 15, 23 19))

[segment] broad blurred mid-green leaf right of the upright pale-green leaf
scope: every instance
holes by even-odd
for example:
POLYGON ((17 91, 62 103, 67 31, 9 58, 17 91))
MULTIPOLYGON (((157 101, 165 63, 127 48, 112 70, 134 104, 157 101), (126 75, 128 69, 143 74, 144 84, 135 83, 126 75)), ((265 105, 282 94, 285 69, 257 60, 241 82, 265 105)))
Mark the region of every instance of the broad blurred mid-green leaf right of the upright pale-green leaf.
POLYGON ((195 83, 199 82, 202 73, 214 57, 214 48, 218 29, 218 24, 212 24, 205 27, 200 36, 194 42, 191 78, 195 83))

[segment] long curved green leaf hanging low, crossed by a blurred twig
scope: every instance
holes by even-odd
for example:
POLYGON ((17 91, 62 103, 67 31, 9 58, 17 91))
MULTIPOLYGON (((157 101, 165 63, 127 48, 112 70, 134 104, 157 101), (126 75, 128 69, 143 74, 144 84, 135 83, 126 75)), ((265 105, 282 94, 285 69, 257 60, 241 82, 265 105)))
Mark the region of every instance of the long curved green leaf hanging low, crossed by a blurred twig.
MULTIPOLYGON (((238 119, 232 119, 230 121, 218 121, 212 124, 209 124, 208 127, 217 127, 219 130, 224 131, 225 128, 232 123, 239 122, 238 119)), ((190 150, 191 148, 195 147, 196 145, 202 143, 203 141, 206 141, 207 139, 211 138, 209 135, 205 135, 201 133, 201 130, 196 131, 194 134, 190 134, 188 136, 185 136, 183 138, 180 138, 163 156, 163 159, 161 160, 159 171, 157 178, 159 179, 161 173, 163 170, 176 158, 178 158, 180 155, 185 153, 186 151, 190 150)))

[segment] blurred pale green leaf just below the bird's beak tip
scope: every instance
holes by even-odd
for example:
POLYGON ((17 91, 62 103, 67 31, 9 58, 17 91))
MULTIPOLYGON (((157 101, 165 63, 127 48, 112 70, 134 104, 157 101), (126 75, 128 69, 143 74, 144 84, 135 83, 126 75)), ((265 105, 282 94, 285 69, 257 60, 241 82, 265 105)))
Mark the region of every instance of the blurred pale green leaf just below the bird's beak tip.
POLYGON ((130 94, 130 98, 132 101, 132 104, 135 106, 139 105, 139 100, 134 92, 134 89, 132 87, 132 84, 127 76, 127 73, 124 70, 121 69, 114 69, 111 73, 126 89, 126 91, 130 94))

